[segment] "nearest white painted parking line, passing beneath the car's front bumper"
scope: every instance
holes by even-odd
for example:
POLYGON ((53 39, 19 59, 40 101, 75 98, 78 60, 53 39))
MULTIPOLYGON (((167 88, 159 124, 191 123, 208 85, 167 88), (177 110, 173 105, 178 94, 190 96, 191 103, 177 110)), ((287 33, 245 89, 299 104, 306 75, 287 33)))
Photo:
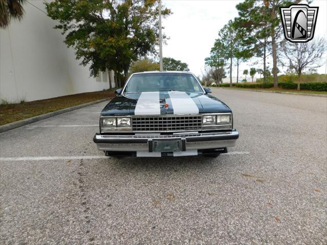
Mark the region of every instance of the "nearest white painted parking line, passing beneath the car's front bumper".
MULTIPOLYGON (((248 155, 249 152, 228 152, 221 155, 248 155)), ((107 159, 106 156, 49 156, 49 157, 0 157, 0 161, 47 161, 47 160, 79 160, 79 159, 107 159)))

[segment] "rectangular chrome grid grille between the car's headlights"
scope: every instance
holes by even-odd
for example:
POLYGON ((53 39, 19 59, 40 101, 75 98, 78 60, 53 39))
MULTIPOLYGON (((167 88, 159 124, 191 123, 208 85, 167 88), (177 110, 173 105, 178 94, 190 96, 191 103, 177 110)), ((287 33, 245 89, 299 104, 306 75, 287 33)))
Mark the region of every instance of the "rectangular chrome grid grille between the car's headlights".
POLYGON ((133 132, 194 131, 202 129, 202 116, 133 116, 133 132))

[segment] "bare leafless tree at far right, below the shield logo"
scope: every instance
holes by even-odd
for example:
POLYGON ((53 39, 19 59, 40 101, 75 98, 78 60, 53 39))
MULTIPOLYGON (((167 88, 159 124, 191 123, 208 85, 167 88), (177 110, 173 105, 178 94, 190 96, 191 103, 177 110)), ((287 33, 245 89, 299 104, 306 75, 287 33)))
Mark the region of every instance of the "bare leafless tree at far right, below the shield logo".
POLYGON ((298 76, 297 90, 300 90, 301 74, 305 68, 317 68, 321 57, 326 52, 326 40, 318 38, 310 42, 292 43, 284 41, 281 53, 283 66, 294 70, 298 76))

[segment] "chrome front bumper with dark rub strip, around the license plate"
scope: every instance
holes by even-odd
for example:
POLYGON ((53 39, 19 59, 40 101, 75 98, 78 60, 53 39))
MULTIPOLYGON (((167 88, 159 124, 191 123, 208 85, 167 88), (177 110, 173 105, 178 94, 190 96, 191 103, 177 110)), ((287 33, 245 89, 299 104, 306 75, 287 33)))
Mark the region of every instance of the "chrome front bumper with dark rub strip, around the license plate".
POLYGON ((235 146, 239 132, 190 133, 171 135, 100 135, 93 141, 99 151, 112 152, 152 152, 152 140, 181 139, 182 151, 217 149, 235 146))

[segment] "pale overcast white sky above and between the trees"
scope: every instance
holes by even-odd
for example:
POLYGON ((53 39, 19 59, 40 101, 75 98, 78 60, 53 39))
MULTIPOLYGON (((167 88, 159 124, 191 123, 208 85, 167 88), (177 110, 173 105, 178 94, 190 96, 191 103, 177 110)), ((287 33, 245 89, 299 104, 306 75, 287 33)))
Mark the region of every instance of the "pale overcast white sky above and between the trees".
MULTIPOLYGON (((197 76, 204 72, 204 58, 210 55, 210 50, 218 38, 219 30, 238 16, 236 5, 238 0, 162 0, 162 4, 170 8, 173 14, 162 19, 163 32, 169 37, 162 47, 164 57, 172 57, 189 64, 190 71, 197 76)), ((319 36, 327 38, 327 1, 314 0, 310 6, 319 7, 314 39, 319 36)), ((324 63, 318 73, 326 73, 326 55, 324 63)), ((261 59, 262 60, 262 59, 261 59)), ((254 65, 257 59, 240 66, 240 74, 250 67, 262 68, 254 65)), ((268 59, 268 66, 272 67, 272 59, 268 59)), ((282 70, 282 67, 279 67, 282 70)), ((284 69, 285 70, 285 69, 284 69)), ((229 77, 229 73, 227 72, 229 77)), ((236 68, 232 76, 236 77, 236 68)))

